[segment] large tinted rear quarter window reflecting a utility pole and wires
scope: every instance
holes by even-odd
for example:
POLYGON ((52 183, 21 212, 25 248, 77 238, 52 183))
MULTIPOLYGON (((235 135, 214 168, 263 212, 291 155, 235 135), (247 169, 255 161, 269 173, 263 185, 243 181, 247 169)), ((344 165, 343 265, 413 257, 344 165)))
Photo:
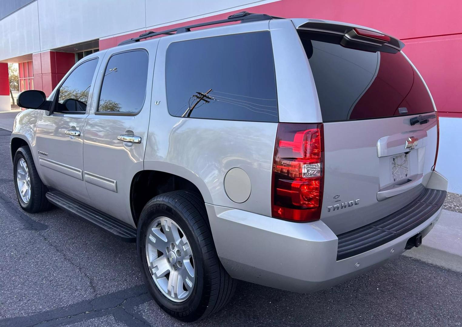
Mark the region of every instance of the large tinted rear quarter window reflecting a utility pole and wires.
POLYGON ((269 32, 172 43, 165 78, 173 116, 278 121, 269 32))

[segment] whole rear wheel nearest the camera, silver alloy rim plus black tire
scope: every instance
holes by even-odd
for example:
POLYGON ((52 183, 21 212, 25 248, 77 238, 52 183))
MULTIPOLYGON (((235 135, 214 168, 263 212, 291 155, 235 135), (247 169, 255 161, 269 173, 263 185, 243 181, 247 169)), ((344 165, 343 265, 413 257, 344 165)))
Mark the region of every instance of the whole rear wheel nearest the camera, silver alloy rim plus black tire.
POLYGON ((218 311, 236 285, 219 261, 206 219, 201 198, 183 190, 152 198, 140 215, 143 278, 158 305, 182 321, 218 311))

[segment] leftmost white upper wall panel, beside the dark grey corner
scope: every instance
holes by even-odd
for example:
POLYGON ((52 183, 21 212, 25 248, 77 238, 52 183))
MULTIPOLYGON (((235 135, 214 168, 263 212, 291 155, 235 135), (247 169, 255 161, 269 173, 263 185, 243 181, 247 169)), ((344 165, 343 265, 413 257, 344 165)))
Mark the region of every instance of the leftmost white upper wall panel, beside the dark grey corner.
POLYGON ((40 51, 37 2, 0 20, 0 60, 40 51))

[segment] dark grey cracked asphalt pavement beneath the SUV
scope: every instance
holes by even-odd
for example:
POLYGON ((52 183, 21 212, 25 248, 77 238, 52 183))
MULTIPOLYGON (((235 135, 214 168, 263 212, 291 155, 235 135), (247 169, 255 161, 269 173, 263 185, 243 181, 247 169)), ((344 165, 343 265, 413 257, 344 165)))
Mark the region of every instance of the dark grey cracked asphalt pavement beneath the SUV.
MULTIPOLYGON (((134 244, 57 208, 19 208, 9 134, 0 130, 0 327, 188 325, 147 293, 134 244)), ((313 294, 240 282, 224 310, 190 325, 461 326, 461 290, 461 272, 400 256, 313 294)))

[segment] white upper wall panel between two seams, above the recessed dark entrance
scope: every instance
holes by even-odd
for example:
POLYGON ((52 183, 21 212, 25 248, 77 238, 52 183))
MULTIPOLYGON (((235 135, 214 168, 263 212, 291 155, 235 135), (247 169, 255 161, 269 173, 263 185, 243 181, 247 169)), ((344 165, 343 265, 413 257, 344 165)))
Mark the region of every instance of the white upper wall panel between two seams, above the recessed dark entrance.
POLYGON ((146 26, 145 0, 38 0, 38 12, 42 50, 146 26))

